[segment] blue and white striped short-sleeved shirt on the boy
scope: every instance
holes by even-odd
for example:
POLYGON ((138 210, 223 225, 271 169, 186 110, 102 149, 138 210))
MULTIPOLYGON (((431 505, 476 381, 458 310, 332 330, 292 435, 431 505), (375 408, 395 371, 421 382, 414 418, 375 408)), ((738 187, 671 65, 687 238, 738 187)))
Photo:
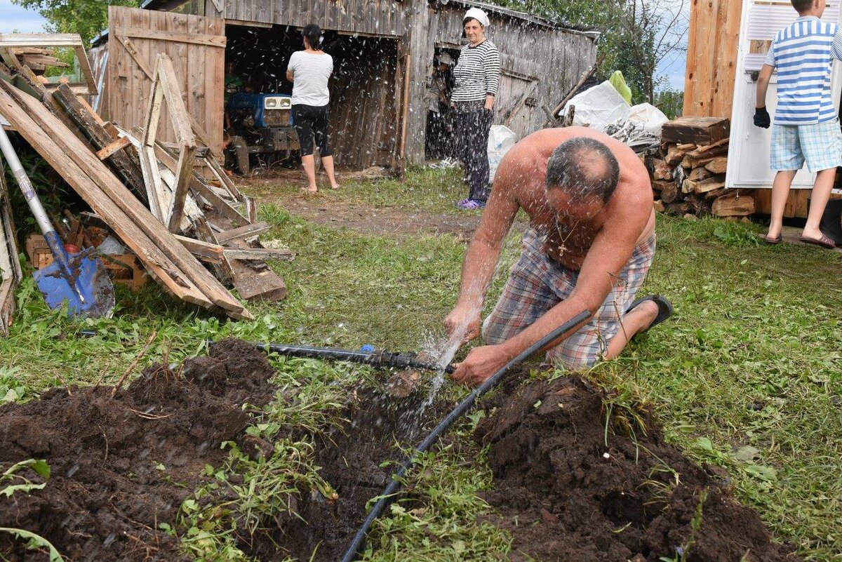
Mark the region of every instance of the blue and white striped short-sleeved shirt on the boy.
POLYGON ((830 92, 834 59, 842 60, 842 29, 806 16, 775 34, 765 64, 778 70, 775 125, 813 125, 836 119, 830 92))

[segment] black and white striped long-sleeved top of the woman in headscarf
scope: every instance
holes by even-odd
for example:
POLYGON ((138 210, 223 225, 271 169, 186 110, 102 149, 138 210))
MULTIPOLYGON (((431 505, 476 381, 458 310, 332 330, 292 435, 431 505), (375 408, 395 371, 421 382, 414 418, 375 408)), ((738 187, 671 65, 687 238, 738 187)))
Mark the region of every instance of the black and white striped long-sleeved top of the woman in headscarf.
POLYGON ((465 45, 453 69, 456 86, 452 102, 478 102, 496 96, 500 84, 500 53, 489 40, 472 47, 465 45))

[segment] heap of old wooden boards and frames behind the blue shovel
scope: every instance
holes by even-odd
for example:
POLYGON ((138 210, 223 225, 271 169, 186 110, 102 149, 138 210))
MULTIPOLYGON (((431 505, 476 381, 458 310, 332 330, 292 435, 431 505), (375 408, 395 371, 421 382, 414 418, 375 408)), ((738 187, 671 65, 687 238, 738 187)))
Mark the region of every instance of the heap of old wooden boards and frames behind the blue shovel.
MULTIPOLYGON (((2 41, 0 51, 8 60, 2 41)), ((127 131, 100 119, 67 84, 45 87, 26 65, 45 55, 30 51, 12 68, 0 64, 0 115, 93 210, 74 223, 75 241, 90 243, 86 228, 104 229, 169 293, 233 318, 253 315, 226 285, 246 300, 285 297, 283 279, 265 260, 295 254, 259 244, 270 226, 258 222, 255 201, 226 175, 218 150, 201 146, 167 56, 158 59, 146 127, 127 131), (175 144, 156 139, 164 103, 175 144)), ((4 200, 0 189, 0 210, 4 200)), ((140 284, 134 271, 131 280, 140 284)))

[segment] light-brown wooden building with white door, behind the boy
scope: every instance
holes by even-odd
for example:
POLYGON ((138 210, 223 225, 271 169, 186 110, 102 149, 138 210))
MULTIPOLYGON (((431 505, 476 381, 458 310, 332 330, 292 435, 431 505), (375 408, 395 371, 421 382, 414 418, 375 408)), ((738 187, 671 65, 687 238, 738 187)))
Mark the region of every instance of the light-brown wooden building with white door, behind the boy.
MULTIPOLYGON (((684 114, 731 119, 727 187, 753 188, 756 212, 769 214, 770 130, 754 127, 756 72, 778 29, 797 18, 789 2, 772 0, 692 0, 685 72, 684 114)), ((823 19, 839 22, 839 4, 829 3, 823 19)), ((834 101, 839 109, 842 68, 834 68, 834 101)), ((775 108, 776 76, 766 100, 775 108)), ((807 217, 814 174, 806 168, 793 182, 785 216, 807 217)), ((839 181, 837 181, 839 188, 839 181)))

